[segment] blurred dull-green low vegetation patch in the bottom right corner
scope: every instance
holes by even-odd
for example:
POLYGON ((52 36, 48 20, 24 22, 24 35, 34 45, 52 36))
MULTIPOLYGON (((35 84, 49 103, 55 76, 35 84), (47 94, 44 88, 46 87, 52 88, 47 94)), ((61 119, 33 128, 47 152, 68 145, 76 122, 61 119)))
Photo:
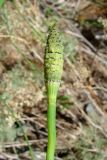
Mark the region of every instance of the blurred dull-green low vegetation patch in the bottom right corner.
POLYGON ((107 154, 103 148, 106 146, 107 141, 95 128, 84 128, 84 135, 75 144, 74 155, 79 160, 104 160, 107 154))

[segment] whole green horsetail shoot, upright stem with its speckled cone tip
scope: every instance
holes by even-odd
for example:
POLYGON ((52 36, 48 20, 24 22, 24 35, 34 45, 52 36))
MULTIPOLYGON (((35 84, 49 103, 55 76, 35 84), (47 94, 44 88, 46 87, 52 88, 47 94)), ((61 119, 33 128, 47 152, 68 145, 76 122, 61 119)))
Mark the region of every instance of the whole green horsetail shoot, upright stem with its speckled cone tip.
POLYGON ((48 147, 46 160, 54 160, 56 145, 56 100, 63 71, 63 44, 57 25, 50 28, 45 49, 45 84, 48 99, 48 147))

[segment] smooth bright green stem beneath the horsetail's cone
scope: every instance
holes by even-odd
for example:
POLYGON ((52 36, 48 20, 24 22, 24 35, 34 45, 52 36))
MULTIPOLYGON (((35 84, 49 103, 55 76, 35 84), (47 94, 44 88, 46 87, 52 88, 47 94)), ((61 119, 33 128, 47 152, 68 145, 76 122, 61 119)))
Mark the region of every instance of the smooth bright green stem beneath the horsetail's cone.
POLYGON ((48 148, 46 160, 54 160, 56 146, 56 99, 59 84, 50 83, 47 86, 48 91, 48 148))

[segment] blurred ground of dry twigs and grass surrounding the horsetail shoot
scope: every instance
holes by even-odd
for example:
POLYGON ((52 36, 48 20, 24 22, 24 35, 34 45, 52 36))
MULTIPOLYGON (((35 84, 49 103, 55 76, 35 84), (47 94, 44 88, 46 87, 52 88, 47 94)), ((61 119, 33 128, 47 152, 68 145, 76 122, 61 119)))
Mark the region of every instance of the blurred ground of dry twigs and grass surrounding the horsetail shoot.
POLYGON ((0 0, 0 160, 44 160, 44 50, 54 22, 64 44, 56 157, 107 160, 106 0, 0 0))

